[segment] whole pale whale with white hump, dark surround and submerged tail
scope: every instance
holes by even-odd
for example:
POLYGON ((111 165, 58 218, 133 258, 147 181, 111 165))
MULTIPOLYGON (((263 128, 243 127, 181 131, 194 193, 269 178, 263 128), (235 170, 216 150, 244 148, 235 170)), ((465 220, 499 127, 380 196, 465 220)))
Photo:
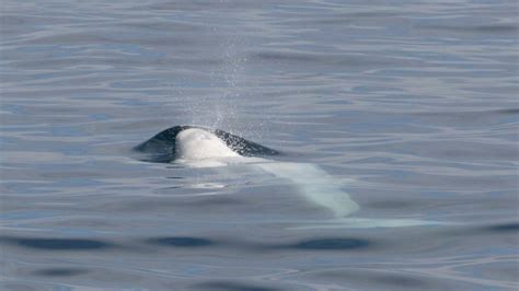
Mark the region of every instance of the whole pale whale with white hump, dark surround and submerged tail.
POLYGON ((148 154, 145 161, 181 163, 192 167, 219 167, 249 164, 279 178, 290 181, 309 201, 327 209, 333 220, 311 221, 303 228, 395 228, 437 224, 414 219, 346 218, 359 206, 342 190, 333 176, 316 165, 279 162, 273 156, 281 153, 229 132, 196 126, 175 126, 165 129, 136 151, 148 154))

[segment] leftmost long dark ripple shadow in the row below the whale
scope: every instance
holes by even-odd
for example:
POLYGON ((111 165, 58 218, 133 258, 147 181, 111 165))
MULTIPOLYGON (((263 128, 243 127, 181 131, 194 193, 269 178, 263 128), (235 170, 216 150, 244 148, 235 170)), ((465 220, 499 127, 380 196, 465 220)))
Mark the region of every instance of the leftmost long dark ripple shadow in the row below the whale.
POLYGON ((27 248, 48 249, 48 251, 82 251, 82 249, 103 249, 114 245, 101 241, 83 238, 35 238, 1 236, 0 242, 18 245, 27 248))

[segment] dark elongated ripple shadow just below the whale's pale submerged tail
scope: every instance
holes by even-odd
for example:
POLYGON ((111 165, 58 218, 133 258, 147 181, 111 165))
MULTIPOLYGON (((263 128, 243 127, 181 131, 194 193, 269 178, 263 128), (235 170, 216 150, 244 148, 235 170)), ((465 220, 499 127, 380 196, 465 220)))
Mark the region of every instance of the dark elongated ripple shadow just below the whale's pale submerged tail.
POLYGON ((301 241, 299 243, 287 245, 287 247, 299 249, 356 249, 368 247, 371 244, 371 242, 361 238, 331 237, 301 241))

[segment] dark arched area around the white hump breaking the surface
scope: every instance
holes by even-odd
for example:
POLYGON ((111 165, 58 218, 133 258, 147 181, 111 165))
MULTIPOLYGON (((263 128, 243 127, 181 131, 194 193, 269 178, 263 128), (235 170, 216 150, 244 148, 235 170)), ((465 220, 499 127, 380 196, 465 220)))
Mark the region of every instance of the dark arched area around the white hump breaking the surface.
POLYGON ((174 126, 162 130, 149 140, 135 147, 134 150, 149 154, 143 161, 155 163, 170 163, 175 160, 176 136, 189 128, 207 130, 220 138, 227 147, 242 156, 272 156, 279 155, 280 152, 253 141, 240 138, 220 129, 212 129, 199 126, 174 126))

